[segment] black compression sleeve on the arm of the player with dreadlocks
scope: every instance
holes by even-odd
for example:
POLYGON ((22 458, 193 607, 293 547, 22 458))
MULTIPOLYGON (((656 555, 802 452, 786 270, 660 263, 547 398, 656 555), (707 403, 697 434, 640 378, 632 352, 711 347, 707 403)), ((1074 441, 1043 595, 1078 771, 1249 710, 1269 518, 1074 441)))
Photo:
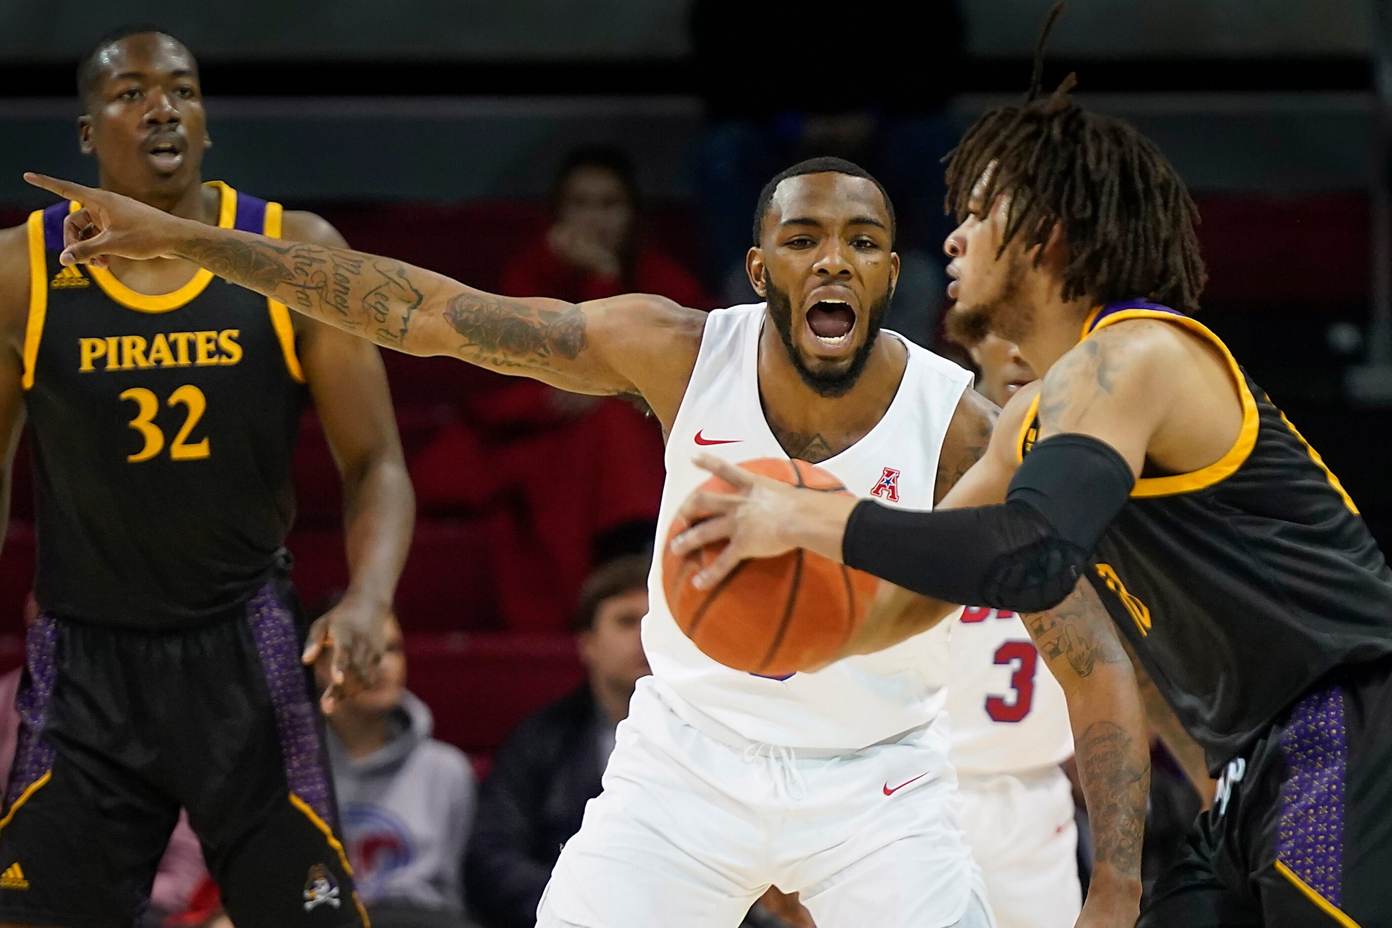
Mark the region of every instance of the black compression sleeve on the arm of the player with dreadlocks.
POLYGON ((1073 590, 1136 477, 1107 442, 1038 442, 1005 504, 915 512, 864 501, 842 540, 848 566, 944 602, 1038 612, 1073 590))

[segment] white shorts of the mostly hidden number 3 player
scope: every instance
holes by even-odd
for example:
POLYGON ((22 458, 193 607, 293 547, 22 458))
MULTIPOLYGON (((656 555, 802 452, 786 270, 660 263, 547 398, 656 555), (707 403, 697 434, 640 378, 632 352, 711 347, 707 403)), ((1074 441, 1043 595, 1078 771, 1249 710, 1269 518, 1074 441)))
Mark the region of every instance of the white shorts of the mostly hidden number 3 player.
POLYGON ((963 774, 960 786, 962 831, 999 928, 1073 928, 1083 890, 1063 771, 963 774))

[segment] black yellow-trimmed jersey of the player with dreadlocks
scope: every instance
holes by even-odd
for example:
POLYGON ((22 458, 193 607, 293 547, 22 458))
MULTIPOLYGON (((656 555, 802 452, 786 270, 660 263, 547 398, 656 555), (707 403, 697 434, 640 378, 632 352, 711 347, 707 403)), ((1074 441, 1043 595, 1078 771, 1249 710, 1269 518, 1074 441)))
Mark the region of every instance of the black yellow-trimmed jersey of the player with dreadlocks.
MULTIPOLYGON (((1218 462, 1136 481, 1087 577, 1210 769, 1246 750, 1321 678, 1392 654, 1392 570, 1353 499, 1228 348, 1193 319, 1130 301, 1083 337, 1157 319, 1232 369, 1243 424, 1218 462)), ((1020 456, 1038 435, 1038 398, 1020 456)))

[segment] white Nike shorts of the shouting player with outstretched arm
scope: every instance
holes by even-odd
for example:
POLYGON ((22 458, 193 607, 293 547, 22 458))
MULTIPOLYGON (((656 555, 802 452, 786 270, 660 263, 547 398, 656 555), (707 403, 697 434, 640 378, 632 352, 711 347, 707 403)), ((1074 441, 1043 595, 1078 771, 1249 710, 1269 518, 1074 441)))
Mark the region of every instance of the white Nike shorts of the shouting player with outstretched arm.
POLYGON ((540 928, 735 928, 770 885, 818 928, 991 925, 945 719, 810 757, 681 721, 650 678, 561 851, 540 928))

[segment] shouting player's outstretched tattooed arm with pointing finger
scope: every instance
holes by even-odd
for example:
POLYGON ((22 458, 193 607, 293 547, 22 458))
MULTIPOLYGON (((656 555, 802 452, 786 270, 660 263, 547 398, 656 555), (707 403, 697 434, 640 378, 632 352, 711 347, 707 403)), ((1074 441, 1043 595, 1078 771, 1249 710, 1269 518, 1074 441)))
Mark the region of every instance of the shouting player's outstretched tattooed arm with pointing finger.
POLYGON ((82 203, 64 230, 65 264, 182 257, 387 348, 452 355, 574 392, 642 395, 664 424, 700 346, 704 313, 661 296, 498 296, 390 257, 214 228, 109 191, 25 178, 82 203))

